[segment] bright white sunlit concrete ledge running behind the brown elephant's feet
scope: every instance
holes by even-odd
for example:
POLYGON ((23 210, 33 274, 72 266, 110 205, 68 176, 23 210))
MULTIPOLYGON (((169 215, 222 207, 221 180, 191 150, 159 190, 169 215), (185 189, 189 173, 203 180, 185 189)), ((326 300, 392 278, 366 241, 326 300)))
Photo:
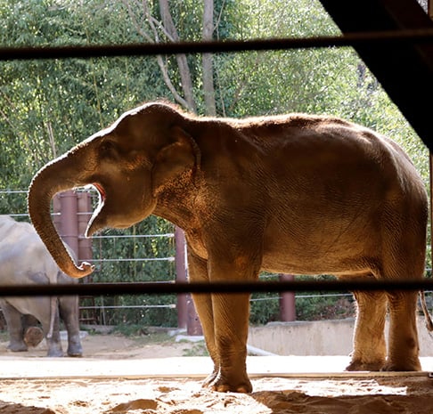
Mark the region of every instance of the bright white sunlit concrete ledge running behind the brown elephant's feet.
MULTIPOLYGON (((250 377, 427 377, 433 358, 421 358, 421 372, 346 372, 347 356, 249 356, 250 377)), ((0 357, 0 378, 108 378, 151 377, 204 378, 213 366, 209 357, 170 357, 137 360, 95 360, 92 358, 0 357)))

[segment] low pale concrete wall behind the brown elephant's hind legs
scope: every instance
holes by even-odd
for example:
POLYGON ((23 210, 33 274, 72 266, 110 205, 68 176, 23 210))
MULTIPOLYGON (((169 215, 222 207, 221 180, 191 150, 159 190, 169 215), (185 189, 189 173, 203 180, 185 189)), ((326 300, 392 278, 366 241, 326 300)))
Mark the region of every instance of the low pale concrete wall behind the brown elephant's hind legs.
MULTIPOLYGON (((355 320, 271 322, 249 329, 249 345, 278 355, 348 355, 355 320)), ((387 327, 388 331, 388 322, 387 327)), ((420 356, 433 356, 433 337, 418 319, 420 356)))

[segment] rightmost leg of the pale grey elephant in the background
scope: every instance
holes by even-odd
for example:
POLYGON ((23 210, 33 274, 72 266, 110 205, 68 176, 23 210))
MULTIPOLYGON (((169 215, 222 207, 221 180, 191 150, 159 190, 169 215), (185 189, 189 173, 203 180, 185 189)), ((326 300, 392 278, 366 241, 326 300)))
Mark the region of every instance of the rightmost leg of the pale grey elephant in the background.
POLYGON ((79 337, 78 296, 59 297, 60 317, 68 332, 68 355, 82 356, 83 347, 79 337))

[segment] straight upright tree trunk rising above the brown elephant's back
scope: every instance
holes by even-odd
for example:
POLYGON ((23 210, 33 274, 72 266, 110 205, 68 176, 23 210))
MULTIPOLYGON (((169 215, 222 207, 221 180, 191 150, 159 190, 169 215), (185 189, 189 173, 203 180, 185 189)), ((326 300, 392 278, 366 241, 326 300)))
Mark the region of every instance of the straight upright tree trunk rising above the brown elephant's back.
MULTIPOLYGON (((203 10, 203 40, 210 41, 214 33, 214 0, 204 1, 203 10)), ((211 53, 201 56, 203 66, 203 93, 208 115, 217 115, 214 89, 213 57, 211 53)))

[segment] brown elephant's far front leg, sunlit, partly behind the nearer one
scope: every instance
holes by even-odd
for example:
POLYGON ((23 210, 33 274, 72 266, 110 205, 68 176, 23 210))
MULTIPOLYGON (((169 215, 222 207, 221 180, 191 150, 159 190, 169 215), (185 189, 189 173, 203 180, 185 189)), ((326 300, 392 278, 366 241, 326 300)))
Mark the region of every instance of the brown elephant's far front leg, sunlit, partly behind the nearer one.
MULTIPOLYGON (((208 269, 207 262, 188 252, 188 272, 189 279, 194 282, 207 282, 208 269)), ((210 294, 192 294, 194 306, 199 314, 201 328, 208 348, 210 358, 214 363, 214 369, 211 374, 204 380, 203 386, 211 384, 219 372, 219 360, 217 353, 217 345, 215 343, 214 332, 214 315, 212 311, 212 299, 210 294)))

